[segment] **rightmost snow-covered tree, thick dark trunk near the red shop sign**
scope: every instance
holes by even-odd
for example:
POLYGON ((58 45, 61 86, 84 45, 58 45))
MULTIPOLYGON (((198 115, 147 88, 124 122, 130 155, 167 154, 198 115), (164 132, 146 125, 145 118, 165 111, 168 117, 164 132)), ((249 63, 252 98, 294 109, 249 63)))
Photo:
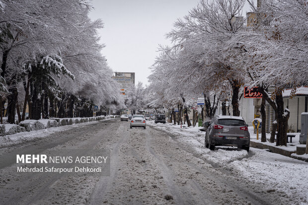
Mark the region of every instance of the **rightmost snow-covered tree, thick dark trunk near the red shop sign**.
MULTIPOLYGON (((248 72, 275 110, 276 145, 287 145, 290 111, 282 93, 286 88, 308 85, 308 5, 305 0, 262 0, 253 10, 258 24, 243 34, 248 72), (267 89, 273 87, 269 94, 267 89)), ((274 136, 272 137, 272 141, 274 136)))

